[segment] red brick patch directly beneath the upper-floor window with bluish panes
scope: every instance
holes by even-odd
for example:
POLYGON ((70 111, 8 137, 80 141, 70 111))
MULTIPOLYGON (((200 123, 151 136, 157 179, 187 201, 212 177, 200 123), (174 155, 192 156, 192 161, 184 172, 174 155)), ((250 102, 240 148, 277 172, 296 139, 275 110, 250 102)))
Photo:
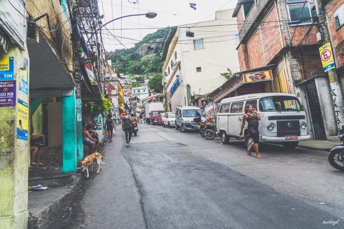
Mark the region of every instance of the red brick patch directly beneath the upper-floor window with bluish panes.
MULTIPOLYGON (((290 26, 289 27, 289 32, 290 32, 290 38, 293 38, 293 44, 298 45, 301 40, 304 38, 306 35, 310 25, 301 25, 301 26, 290 26), (296 28, 296 29, 295 29, 296 28), (295 35, 294 34, 295 31, 295 35)), ((307 44, 318 44, 317 41, 317 33, 318 33, 318 28, 317 25, 313 25, 311 31, 309 32, 308 36, 304 38, 304 41, 302 42, 303 45, 307 44)))

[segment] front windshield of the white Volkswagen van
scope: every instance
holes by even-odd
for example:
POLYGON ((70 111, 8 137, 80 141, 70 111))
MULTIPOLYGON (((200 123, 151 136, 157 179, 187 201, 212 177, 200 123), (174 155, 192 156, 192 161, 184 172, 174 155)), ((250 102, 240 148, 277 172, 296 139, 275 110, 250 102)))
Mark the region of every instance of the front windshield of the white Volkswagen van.
POLYGON ((299 100, 293 96, 270 96, 259 100, 261 112, 303 111, 299 100))

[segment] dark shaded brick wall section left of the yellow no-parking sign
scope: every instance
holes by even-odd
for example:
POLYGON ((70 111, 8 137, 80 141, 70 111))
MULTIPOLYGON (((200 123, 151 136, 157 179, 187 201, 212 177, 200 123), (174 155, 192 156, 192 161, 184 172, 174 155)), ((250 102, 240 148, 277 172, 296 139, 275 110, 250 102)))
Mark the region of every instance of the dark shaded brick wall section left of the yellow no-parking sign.
POLYGON ((324 68, 320 56, 304 57, 304 63, 302 62, 302 57, 298 57, 298 60, 303 79, 309 78, 311 72, 324 73, 324 68))

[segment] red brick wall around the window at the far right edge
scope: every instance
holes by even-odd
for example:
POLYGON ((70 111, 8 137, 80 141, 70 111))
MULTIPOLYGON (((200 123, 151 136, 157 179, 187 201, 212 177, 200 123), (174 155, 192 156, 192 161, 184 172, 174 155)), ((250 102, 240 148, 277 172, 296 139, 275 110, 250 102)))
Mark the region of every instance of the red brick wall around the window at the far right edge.
POLYGON ((336 51, 338 66, 337 68, 344 66, 344 57, 342 57, 342 53, 344 54, 344 26, 336 28, 336 24, 334 21, 333 13, 342 5, 344 4, 344 0, 332 0, 328 2, 326 5, 326 12, 328 15, 328 23, 330 25, 330 30, 332 34, 333 40, 333 47, 336 51))

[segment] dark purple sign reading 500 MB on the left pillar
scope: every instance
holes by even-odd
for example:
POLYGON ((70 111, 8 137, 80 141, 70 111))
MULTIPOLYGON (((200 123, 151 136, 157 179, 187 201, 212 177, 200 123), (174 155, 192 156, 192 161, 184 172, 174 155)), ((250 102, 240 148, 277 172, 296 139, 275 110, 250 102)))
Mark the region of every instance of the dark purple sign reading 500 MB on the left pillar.
POLYGON ((0 81, 0 107, 16 106, 16 80, 0 81))

